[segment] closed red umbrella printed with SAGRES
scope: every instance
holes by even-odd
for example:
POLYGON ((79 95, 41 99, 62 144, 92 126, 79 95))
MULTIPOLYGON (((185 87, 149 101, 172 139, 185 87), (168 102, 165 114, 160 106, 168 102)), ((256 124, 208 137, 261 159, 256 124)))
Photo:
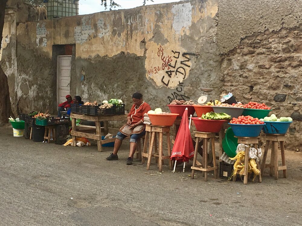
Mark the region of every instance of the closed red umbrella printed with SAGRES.
POLYGON ((188 108, 186 108, 182 115, 182 121, 176 135, 170 159, 188 162, 192 157, 194 157, 194 146, 189 129, 188 108))

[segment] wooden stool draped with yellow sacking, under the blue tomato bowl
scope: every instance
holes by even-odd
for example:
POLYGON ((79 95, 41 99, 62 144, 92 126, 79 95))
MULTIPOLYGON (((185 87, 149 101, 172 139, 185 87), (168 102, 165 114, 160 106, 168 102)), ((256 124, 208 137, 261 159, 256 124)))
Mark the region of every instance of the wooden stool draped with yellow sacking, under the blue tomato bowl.
MULTIPOLYGON (((239 144, 247 144, 248 147, 245 148, 245 155, 244 155, 244 171, 243 171, 243 184, 247 184, 248 180, 248 167, 249 167, 249 145, 252 144, 254 148, 257 150, 257 156, 258 156, 258 139, 259 137, 237 137, 238 138, 238 143, 239 144)), ((256 162, 257 164, 257 169, 259 169, 260 174, 257 175, 258 182, 262 182, 261 178, 261 169, 260 169, 260 164, 259 162, 256 162)), ((236 175, 237 176, 237 175, 236 175)), ((233 181, 236 181, 236 176, 233 176, 233 181)))

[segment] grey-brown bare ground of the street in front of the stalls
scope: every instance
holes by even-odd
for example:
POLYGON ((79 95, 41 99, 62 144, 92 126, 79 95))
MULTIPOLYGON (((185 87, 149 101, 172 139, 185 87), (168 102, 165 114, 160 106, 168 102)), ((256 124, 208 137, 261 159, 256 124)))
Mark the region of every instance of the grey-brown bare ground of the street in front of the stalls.
POLYGON ((185 173, 127 166, 127 142, 106 161, 112 148, 36 143, 7 126, 0 135, 1 225, 301 225, 301 152, 286 151, 288 178, 266 170, 244 185, 191 180, 190 164, 185 173))

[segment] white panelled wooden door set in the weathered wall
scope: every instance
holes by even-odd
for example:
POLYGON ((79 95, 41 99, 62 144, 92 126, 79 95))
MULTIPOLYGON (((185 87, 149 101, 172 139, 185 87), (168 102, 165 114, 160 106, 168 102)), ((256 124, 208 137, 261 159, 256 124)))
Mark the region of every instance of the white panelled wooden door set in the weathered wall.
POLYGON ((63 103, 70 94, 71 56, 58 56, 57 65, 57 101, 63 103))

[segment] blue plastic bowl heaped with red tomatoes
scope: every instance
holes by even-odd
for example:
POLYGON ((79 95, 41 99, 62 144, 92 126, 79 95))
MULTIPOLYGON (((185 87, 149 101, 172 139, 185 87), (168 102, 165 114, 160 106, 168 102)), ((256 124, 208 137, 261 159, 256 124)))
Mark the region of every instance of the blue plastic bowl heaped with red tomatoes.
POLYGON ((263 126, 265 125, 229 124, 232 127, 236 137, 258 137, 263 126))

